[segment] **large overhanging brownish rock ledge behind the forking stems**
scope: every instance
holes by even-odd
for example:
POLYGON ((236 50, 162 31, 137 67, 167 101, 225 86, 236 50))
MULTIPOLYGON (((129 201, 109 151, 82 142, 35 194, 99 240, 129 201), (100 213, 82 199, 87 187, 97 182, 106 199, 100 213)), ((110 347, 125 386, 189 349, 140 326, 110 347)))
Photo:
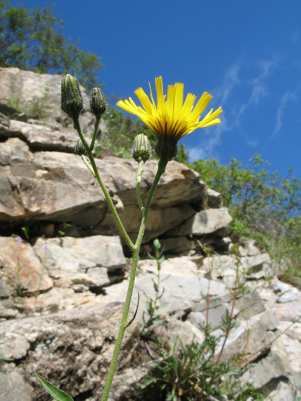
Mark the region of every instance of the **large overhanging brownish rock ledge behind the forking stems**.
MULTIPOLYGON (((17 223, 30 217, 48 224, 73 223, 91 234, 119 234, 96 178, 79 156, 36 152, 33 157, 33 160, 4 167, 6 170, 0 179, 0 221, 17 223)), ((141 219, 136 202, 137 163, 110 157, 97 159, 96 164, 116 207, 123 210, 124 227, 135 240, 141 219)), ((156 170, 155 160, 149 160, 144 166, 143 202, 156 170)), ((201 186, 192 170, 181 163, 170 162, 153 198, 144 241, 158 237, 193 216, 195 209, 191 205, 201 204, 204 188, 205 184, 201 186)))

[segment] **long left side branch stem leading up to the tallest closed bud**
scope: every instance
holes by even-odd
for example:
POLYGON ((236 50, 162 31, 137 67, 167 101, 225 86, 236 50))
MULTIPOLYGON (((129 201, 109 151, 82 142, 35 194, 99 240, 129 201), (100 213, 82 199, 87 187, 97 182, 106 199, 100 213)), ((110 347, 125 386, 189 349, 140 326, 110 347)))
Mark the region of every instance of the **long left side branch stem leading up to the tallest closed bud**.
POLYGON ((120 218, 118 216, 118 213, 117 213, 117 211, 115 209, 115 206, 113 204, 112 198, 111 198, 111 196, 110 196, 110 194, 109 194, 109 192, 108 192, 108 190, 106 188, 106 185, 104 184, 104 182, 103 182, 103 180, 102 180, 102 178, 101 178, 101 176, 100 176, 100 174, 98 172, 98 168, 96 166, 94 157, 92 155, 92 150, 89 148, 89 145, 87 144, 87 141, 85 140, 85 137, 83 136, 83 133, 81 132, 81 127, 79 125, 79 121, 78 121, 78 119, 74 119, 73 122, 74 122, 74 125, 75 125, 75 129, 77 130, 77 132, 79 134, 79 138, 81 139, 81 142, 83 143, 83 146, 85 147, 85 150, 87 152, 87 156, 88 156, 88 158, 90 160, 90 163, 91 163, 91 166, 93 168, 95 177, 98 180, 98 183, 100 184, 100 187, 102 188, 102 191, 104 192, 104 196, 106 197, 108 205, 109 205, 109 207, 111 209, 111 212, 112 212, 112 214, 114 216, 114 219, 116 220, 116 223, 118 224, 118 227, 120 229, 120 232, 121 232, 122 236, 124 237, 124 239, 125 239, 126 243, 128 244, 128 246, 130 247, 130 249, 133 251, 134 248, 135 248, 135 245, 132 243, 130 237, 128 236, 127 232, 125 231, 125 229, 124 229, 124 227, 123 227, 123 225, 121 223, 121 220, 120 220, 120 218))

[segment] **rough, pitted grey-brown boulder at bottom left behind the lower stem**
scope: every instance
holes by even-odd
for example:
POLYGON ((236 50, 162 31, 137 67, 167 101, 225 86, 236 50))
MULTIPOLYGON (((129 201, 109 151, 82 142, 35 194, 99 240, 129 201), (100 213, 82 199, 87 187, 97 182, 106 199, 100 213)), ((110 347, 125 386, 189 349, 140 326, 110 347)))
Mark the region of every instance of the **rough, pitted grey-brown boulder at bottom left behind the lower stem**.
MULTIPOLYGON (((0 322, 0 338, 4 340, 6 333, 13 333, 10 349, 16 351, 10 354, 22 358, 13 375, 18 372, 18 378, 23 378, 20 385, 25 382, 33 387, 32 398, 25 398, 30 394, 27 390, 24 398, 14 398, 12 387, 7 386, 10 397, 7 399, 45 399, 47 393, 33 369, 72 397, 85 392, 93 394, 106 378, 121 314, 122 305, 115 303, 103 308, 86 305, 44 316, 0 322), (20 346, 21 339, 26 346, 20 346)), ((138 323, 134 321, 125 332, 120 360, 133 348, 137 331, 138 323)), ((10 363, 2 362, 4 371, 10 363)), ((0 377, 1 384, 5 378, 0 377)))

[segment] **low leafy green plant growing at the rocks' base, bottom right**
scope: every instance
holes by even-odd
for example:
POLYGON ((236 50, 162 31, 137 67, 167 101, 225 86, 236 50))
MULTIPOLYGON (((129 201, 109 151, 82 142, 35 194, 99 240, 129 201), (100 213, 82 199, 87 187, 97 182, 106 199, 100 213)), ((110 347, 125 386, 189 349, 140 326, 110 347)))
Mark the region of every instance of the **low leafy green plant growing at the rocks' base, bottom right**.
POLYGON ((165 395, 165 400, 172 401, 207 401, 209 396, 218 400, 235 399, 246 401, 248 397, 263 400, 262 394, 247 383, 242 385, 240 375, 247 369, 238 367, 243 355, 218 362, 214 358, 218 340, 212 333, 210 324, 200 325, 205 334, 202 344, 192 341, 184 345, 179 338, 171 344, 155 339, 162 362, 154 363, 154 373, 141 387, 157 384, 165 395))

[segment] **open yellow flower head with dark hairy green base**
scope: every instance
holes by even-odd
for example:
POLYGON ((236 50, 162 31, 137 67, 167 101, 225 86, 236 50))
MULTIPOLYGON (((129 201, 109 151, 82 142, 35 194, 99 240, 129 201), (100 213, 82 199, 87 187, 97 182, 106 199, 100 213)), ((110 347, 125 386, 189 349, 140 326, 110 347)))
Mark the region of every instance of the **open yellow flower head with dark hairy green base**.
POLYGON ((219 124, 216 118, 222 113, 219 107, 216 111, 211 109, 205 117, 199 121, 201 113, 207 107, 212 95, 204 92, 193 108, 196 96, 188 93, 183 104, 183 83, 175 83, 167 88, 167 97, 163 94, 162 77, 155 79, 157 90, 157 105, 155 104, 152 89, 150 87, 151 102, 142 88, 134 92, 140 100, 141 106, 136 106, 131 97, 129 100, 119 100, 117 106, 129 113, 137 115, 156 134, 158 143, 156 152, 159 157, 171 160, 177 154, 177 142, 183 136, 196 128, 209 127, 219 124), (165 101, 166 99, 166 101, 165 101))

